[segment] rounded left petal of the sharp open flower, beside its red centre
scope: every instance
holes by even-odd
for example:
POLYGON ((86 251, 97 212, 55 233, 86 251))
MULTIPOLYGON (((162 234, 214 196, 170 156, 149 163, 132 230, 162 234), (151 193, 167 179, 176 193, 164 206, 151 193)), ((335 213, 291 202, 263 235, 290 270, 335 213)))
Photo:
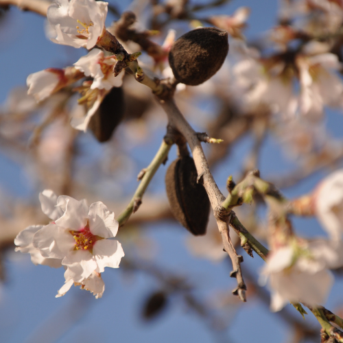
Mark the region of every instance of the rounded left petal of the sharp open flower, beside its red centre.
POLYGON ((75 239, 68 230, 56 224, 49 224, 34 234, 32 244, 40 250, 43 257, 63 259, 73 250, 75 239))

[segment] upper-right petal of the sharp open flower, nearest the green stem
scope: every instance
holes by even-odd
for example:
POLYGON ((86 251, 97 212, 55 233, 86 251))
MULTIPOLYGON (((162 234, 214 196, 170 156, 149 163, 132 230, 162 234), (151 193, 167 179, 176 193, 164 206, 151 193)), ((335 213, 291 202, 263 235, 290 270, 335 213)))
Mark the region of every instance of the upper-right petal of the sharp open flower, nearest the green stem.
POLYGON ((89 229, 93 235, 104 238, 115 237, 118 232, 118 222, 115 220, 115 213, 101 202, 93 202, 88 212, 89 229))

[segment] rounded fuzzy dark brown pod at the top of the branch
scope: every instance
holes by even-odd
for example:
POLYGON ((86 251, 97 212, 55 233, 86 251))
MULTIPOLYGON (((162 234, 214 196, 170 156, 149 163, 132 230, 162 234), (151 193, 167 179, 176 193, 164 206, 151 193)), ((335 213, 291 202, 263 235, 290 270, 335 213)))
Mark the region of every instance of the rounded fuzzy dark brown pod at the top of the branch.
POLYGON ((217 73, 227 54, 228 32, 201 27, 176 40, 169 52, 169 64, 176 80, 196 86, 217 73))

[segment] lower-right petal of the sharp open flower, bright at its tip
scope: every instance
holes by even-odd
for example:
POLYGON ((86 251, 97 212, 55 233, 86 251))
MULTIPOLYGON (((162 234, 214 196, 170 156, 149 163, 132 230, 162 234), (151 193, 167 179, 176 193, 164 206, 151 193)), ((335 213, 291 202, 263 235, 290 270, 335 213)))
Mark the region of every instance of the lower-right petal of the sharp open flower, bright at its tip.
POLYGON ((104 272, 105 267, 119 268, 121 257, 124 256, 123 248, 115 239, 102 239, 93 246, 93 255, 99 266, 99 272, 104 272))

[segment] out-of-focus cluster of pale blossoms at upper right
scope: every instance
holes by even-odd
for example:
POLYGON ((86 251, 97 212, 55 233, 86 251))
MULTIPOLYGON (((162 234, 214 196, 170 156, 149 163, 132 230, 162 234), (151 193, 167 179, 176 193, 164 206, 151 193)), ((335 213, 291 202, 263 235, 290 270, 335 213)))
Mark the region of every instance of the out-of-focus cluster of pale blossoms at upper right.
POLYGON ((264 105, 285 119, 296 115, 320 119, 324 106, 343 108, 343 82, 337 74, 342 65, 338 56, 328 52, 329 45, 311 42, 294 56, 281 52, 261 58, 259 51, 239 44, 238 62, 232 69, 232 92, 243 112, 264 105))

